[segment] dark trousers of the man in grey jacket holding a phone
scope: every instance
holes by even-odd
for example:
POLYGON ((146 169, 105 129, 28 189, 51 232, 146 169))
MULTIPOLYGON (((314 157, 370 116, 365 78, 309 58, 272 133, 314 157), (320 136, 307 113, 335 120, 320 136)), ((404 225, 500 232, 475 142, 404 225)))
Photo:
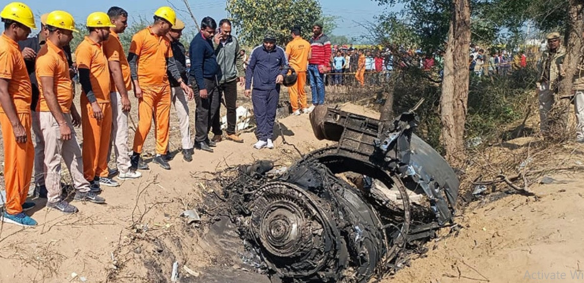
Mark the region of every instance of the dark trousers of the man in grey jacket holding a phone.
MULTIPOLYGON (((225 108, 227 108, 227 134, 235 134, 235 123, 237 123, 237 81, 225 82, 219 85, 220 97, 225 99, 225 108)), ((221 102, 221 99, 219 99, 221 102)), ((219 114, 221 105, 217 108, 217 113, 213 120, 213 134, 223 135, 221 131, 221 115, 219 114)))

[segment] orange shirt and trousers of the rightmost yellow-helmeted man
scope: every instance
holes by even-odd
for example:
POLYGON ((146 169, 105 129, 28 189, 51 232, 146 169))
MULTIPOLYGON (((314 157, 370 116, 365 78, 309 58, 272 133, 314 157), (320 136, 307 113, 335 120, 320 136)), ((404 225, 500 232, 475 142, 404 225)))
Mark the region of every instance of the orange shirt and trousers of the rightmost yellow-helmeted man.
POLYGON ((132 38, 130 53, 137 55, 138 83, 142 98, 138 99, 138 129, 134 135, 134 152, 141 153, 155 114, 156 152, 164 155, 168 148, 171 114, 171 87, 166 75, 166 60, 172 57, 171 43, 166 36, 153 33, 151 27, 132 38))

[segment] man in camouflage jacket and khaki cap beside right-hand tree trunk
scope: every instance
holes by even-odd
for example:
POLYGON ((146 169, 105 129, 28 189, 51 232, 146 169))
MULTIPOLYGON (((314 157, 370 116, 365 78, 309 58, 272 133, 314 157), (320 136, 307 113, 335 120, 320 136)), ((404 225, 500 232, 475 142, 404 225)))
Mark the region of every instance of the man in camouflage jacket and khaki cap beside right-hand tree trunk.
POLYGON ((537 96, 540 102, 540 132, 548 131, 548 112, 554 104, 554 95, 559 91, 559 83, 565 74, 562 64, 566 50, 561 44, 559 33, 550 33, 546 37, 548 48, 541 54, 537 64, 539 79, 537 96))

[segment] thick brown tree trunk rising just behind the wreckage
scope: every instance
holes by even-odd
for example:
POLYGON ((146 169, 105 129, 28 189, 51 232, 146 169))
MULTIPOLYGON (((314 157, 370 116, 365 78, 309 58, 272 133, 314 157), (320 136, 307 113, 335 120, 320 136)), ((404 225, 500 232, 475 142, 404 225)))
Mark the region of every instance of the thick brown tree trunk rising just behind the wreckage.
POLYGON ((441 141, 446 159, 451 163, 464 158, 471 39, 470 1, 453 0, 453 8, 440 97, 441 141))

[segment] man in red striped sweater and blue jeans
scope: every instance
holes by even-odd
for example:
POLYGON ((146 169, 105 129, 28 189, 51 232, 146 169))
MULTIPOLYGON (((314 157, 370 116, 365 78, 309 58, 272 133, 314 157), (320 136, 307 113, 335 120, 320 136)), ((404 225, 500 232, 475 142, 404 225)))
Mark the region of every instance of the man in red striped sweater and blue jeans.
POLYGON ((325 103, 324 73, 319 71, 319 67, 329 68, 331 65, 331 40, 322 33, 322 22, 315 22, 312 25, 312 33, 314 36, 310 38, 311 57, 308 60, 312 106, 308 108, 308 113, 317 105, 325 103))

